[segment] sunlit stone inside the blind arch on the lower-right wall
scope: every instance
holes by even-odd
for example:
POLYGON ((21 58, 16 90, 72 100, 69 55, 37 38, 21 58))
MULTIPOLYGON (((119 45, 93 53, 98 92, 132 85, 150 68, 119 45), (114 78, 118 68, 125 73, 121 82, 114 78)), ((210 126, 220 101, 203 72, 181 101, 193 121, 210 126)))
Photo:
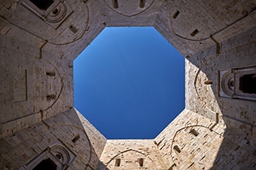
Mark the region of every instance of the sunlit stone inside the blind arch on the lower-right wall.
POLYGON ((176 131, 172 139, 171 159, 175 166, 181 169, 190 167, 196 169, 211 168, 212 165, 209 162, 216 157, 218 153, 216 148, 220 147, 222 140, 221 134, 211 131, 208 127, 202 125, 186 126, 176 131), (198 133, 196 136, 191 134, 191 131, 195 131, 195 129, 198 133), (216 138, 216 135, 219 138, 216 138), (193 158, 199 161, 193 162, 193 158))

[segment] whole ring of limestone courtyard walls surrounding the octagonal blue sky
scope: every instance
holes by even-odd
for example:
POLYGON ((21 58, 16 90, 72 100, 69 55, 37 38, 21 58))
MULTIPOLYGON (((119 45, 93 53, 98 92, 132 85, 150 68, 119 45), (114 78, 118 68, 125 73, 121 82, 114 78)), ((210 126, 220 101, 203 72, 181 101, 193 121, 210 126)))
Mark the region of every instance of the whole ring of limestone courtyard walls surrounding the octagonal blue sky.
POLYGON ((1 0, 0 169, 256 169, 255 8, 1 0), (109 26, 154 26, 185 57, 185 110, 157 138, 107 140, 73 106, 73 60, 109 26))

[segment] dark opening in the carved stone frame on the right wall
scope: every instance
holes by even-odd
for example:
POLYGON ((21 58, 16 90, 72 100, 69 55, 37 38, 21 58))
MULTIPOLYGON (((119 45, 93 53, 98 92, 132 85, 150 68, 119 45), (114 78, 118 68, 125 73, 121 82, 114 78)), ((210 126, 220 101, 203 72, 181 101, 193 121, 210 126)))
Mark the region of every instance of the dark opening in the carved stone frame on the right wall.
POLYGON ((256 93, 256 73, 240 76, 239 90, 244 93, 256 93))

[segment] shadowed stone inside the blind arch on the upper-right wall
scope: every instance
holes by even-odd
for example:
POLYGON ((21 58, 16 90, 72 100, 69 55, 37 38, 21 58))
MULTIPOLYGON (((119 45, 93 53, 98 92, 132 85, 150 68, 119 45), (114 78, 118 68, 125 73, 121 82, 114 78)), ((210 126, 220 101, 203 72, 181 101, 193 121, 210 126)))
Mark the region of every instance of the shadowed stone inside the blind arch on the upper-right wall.
POLYGON ((239 22, 241 19, 244 19, 253 11, 253 9, 251 9, 250 12, 247 12, 246 5, 237 9, 236 6, 240 5, 240 2, 230 4, 227 3, 225 4, 227 5, 225 8, 220 8, 220 6, 217 5, 223 5, 222 3, 202 2, 199 0, 186 1, 182 5, 178 5, 178 3, 179 2, 175 1, 170 2, 169 19, 171 29, 176 36, 191 41, 212 39, 214 35, 221 32, 223 29, 227 29, 228 27, 232 26, 235 22, 239 22), (200 6, 200 9, 191 13, 192 10, 188 9, 194 7, 195 3, 200 6), (232 8, 236 8, 236 11, 232 10, 232 8), (202 10, 211 11, 209 12, 211 15, 203 17, 204 19, 207 17, 207 21, 202 20, 200 17, 202 10), (221 19, 216 19, 219 17, 218 15, 220 15, 220 13, 225 13, 225 16, 221 19), (213 15, 216 17, 213 17, 213 15), (184 19, 186 19, 187 22, 184 23, 184 19), (192 23, 197 23, 197 25, 192 23), (219 28, 216 29, 213 25, 219 26, 219 28), (182 26, 182 29, 180 29, 180 26, 182 26))

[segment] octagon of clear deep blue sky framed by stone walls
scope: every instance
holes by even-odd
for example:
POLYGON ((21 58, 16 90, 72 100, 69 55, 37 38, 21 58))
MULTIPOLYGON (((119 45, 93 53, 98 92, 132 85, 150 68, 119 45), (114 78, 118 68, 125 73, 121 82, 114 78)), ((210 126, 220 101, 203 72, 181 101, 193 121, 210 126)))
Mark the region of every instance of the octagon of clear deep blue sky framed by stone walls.
POLYGON ((185 107, 185 59, 153 27, 111 27, 74 60, 74 107, 108 139, 155 138, 185 107))

